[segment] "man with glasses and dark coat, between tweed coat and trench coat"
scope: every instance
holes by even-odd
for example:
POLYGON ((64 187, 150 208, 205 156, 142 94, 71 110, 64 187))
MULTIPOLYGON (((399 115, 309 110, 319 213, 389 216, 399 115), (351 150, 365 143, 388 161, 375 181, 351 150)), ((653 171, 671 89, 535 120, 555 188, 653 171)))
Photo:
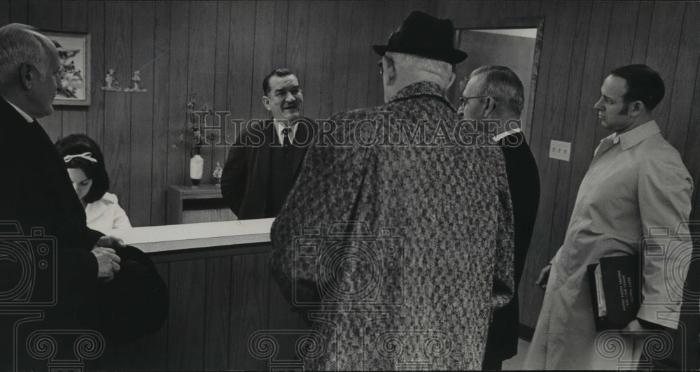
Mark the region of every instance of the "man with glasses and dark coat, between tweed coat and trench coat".
POLYGON ((517 289, 525 266, 527 250, 535 227, 540 201, 540 177, 535 157, 519 127, 523 110, 523 85, 505 66, 482 66, 472 71, 459 97, 458 113, 474 120, 477 128, 489 133, 505 157, 515 227, 513 299, 493 312, 486 341, 482 369, 502 369, 503 361, 518 352, 519 310, 517 289), (491 127, 489 128, 489 123, 491 127))

